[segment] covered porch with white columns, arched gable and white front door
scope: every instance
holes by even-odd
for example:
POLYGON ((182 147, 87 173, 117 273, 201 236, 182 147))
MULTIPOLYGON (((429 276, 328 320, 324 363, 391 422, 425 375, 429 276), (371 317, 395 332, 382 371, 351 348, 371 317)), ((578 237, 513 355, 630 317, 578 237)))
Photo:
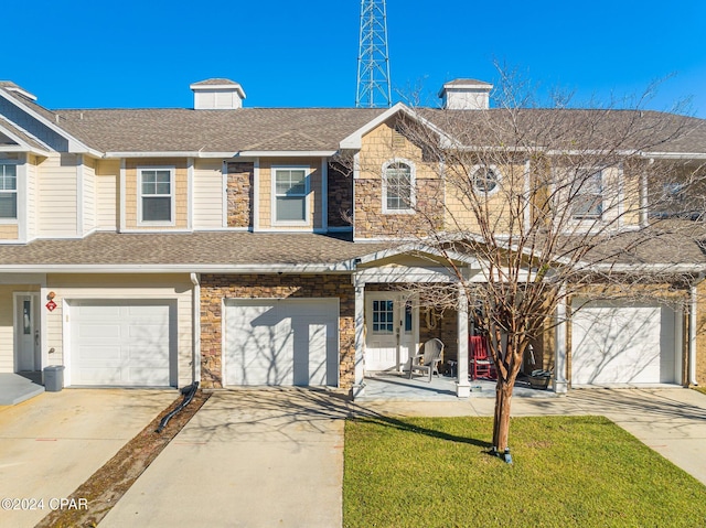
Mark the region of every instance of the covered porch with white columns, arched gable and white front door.
MULTIPOLYGON (((468 255, 454 255, 453 259, 462 280, 430 248, 385 250, 360 259, 353 276, 354 398, 439 400, 495 396, 495 381, 474 379, 470 362, 473 327, 464 284, 485 282, 482 262, 468 255), (442 312, 426 306, 416 293, 417 289, 435 284, 442 287, 447 295, 451 292, 451 302, 442 312), (443 343, 440 376, 434 376, 431 382, 426 378, 407 379, 409 359, 421 353, 425 342, 431 338, 443 343)), ((547 351, 550 355, 554 352, 547 351)), ((515 394, 547 392, 554 389, 533 389, 521 378, 515 394)))

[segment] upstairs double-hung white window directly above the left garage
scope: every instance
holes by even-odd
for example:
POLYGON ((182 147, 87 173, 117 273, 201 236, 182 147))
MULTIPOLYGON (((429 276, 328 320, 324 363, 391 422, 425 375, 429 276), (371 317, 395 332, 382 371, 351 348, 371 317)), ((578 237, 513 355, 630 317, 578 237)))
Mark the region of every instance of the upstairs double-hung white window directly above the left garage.
POLYGON ((138 169, 140 224, 174 224, 174 168, 138 169))

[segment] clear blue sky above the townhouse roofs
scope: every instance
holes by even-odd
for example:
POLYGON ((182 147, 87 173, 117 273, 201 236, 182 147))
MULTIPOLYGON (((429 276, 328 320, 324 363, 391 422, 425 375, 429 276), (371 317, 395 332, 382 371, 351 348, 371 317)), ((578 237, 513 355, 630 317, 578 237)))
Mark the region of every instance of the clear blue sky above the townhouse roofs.
MULTIPOLYGON (((0 79, 47 108, 191 107, 189 85, 210 77, 240 83, 252 107, 355 101, 359 0, 34 0, 2 14, 0 79)), ((579 103, 672 75, 649 107, 691 97, 706 118, 704 0, 387 0, 387 15, 396 100, 436 105, 443 82, 495 82, 500 62, 579 103)))

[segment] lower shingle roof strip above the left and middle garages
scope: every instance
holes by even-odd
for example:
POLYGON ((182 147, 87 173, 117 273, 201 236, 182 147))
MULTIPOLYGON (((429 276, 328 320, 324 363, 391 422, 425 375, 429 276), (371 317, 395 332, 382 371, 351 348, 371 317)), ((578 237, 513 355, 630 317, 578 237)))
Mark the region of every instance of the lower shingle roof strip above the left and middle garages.
POLYGON ((83 239, 35 240, 26 246, 0 246, 0 268, 46 269, 82 266, 163 266, 200 268, 287 265, 332 266, 388 248, 387 244, 353 243, 312 234, 211 231, 192 234, 96 233, 83 239))

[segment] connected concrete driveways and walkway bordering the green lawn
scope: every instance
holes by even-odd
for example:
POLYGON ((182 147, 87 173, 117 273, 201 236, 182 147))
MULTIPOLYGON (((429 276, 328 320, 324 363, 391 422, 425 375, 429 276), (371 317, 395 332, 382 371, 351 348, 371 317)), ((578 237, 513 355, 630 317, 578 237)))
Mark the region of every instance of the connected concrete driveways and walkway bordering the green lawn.
MULTIPOLYGON (((361 403, 306 389, 215 392, 100 526, 341 526, 344 418, 492 416, 493 402, 361 403)), ((513 400, 513 416, 549 414, 607 416, 706 484, 704 395, 591 389, 513 400)))

